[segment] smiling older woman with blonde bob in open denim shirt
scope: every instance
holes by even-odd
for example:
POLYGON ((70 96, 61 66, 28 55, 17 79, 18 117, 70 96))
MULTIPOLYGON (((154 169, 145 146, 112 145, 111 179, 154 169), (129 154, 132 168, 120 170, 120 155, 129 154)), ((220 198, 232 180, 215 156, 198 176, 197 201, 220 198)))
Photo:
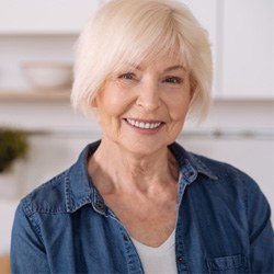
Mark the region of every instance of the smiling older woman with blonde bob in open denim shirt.
POLYGON ((22 199, 14 273, 271 273, 270 206, 256 183, 175 142, 209 104, 205 30, 170 0, 114 0, 83 30, 72 104, 100 141, 22 199))

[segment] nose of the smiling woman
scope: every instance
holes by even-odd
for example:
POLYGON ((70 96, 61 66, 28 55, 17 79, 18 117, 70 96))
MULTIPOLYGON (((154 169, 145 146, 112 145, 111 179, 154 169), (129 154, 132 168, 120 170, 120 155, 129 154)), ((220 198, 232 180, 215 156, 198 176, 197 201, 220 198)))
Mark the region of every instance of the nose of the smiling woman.
POLYGON ((156 111, 161 104, 160 90, 158 83, 142 83, 139 87, 136 104, 148 112, 156 111))

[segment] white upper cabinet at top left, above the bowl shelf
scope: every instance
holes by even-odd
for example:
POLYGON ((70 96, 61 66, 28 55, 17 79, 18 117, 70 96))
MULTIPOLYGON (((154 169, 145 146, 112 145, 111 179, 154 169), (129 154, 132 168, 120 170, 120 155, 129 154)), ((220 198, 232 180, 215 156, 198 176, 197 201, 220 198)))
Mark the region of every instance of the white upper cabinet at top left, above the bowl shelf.
POLYGON ((0 0, 0 34, 78 33, 102 0, 0 0))

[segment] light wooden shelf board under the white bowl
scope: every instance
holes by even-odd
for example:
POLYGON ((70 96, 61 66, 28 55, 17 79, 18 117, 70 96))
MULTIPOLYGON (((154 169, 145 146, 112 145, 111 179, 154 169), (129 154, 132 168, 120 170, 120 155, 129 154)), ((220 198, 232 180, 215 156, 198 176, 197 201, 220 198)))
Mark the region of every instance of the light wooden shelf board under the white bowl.
POLYGON ((69 101, 70 90, 55 91, 0 91, 0 103, 12 101, 69 101))

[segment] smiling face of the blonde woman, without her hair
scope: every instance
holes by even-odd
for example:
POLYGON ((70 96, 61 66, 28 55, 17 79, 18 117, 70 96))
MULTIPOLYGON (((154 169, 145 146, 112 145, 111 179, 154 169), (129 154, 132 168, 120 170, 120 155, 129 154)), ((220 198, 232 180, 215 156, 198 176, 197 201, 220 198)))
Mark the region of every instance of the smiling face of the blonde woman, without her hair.
POLYGON ((183 127, 190 85, 189 72, 176 58, 124 66, 94 101, 102 140, 139 155, 167 149, 183 127))

